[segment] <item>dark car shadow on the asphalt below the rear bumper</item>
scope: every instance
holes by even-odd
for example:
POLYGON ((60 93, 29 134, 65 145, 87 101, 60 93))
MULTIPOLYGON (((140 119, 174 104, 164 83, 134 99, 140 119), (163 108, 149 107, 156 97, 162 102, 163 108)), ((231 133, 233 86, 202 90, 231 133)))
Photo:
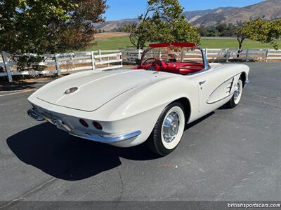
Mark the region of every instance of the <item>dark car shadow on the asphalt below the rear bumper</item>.
POLYGON ((145 145, 117 148, 72 137, 49 123, 30 127, 7 139, 11 151, 28 165, 58 179, 77 181, 121 165, 129 160, 159 158, 145 145))

